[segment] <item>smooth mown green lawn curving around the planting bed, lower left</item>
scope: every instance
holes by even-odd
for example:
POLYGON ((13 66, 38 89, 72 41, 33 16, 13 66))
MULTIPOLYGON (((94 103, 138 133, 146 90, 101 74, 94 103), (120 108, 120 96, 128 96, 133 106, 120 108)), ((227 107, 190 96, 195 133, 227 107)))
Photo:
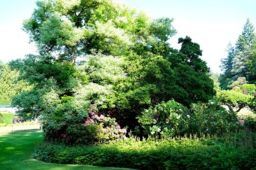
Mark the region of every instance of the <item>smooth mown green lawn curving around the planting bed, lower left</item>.
POLYGON ((44 163, 32 158, 35 144, 42 141, 42 132, 16 132, 0 135, 0 169, 1 170, 121 170, 123 168, 92 167, 85 165, 61 165, 44 163))

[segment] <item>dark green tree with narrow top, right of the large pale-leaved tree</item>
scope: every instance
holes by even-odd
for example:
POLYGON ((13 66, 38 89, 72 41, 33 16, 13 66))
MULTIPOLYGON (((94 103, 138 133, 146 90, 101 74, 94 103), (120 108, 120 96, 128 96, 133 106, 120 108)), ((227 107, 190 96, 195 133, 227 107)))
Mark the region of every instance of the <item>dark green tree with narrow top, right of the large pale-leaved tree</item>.
POLYGON ((214 81, 210 79, 210 69, 201 60, 202 51, 199 44, 191 38, 179 38, 181 50, 170 59, 174 71, 177 91, 172 91, 172 97, 189 106, 197 101, 207 101, 215 94, 214 81))

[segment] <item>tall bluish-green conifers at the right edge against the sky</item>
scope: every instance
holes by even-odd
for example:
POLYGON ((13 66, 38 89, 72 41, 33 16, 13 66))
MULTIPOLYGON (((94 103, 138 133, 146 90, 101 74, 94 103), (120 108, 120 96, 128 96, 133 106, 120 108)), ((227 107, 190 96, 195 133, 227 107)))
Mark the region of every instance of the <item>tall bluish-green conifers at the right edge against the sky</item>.
POLYGON ((253 24, 247 19, 243 32, 238 36, 236 44, 228 44, 228 55, 222 59, 222 75, 220 87, 232 88, 232 82, 238 77, 245 77, 248 83, 256 81, 256 36, 253 24))

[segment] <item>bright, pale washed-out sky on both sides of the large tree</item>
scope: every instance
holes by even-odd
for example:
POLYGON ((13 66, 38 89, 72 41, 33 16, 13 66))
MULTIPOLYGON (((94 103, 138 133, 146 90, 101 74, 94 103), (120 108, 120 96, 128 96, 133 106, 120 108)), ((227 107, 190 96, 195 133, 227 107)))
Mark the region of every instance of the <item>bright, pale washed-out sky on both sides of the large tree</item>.
MULTIPOLYGON (((228 42, 234 44, 246 19, 256 26, 255 0, 121 0, 146 11, 150 17, 174 18, 177 35, 170 44, 179 48, 179 37, 190 36, 203 50, 203 60, 214 72, 220 72, 220 59, 226 57, 228 42)), ((22 22, 30 17, 36 0, 0 1, 0 60, 22 58, 35 53, 22 32, 22 22)))

